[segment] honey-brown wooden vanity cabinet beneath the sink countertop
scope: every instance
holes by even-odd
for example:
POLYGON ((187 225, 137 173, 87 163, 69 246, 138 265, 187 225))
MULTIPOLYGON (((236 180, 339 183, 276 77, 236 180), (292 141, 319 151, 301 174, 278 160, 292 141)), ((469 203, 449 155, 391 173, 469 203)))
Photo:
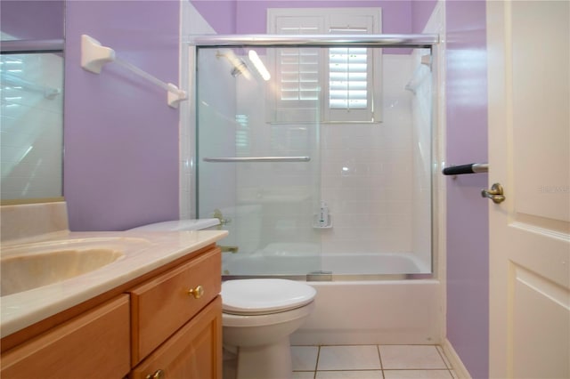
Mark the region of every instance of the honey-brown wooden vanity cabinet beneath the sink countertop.
POLYGON ((221 379, 220 271, 210 245, 17 332, 0 377, 221 379))

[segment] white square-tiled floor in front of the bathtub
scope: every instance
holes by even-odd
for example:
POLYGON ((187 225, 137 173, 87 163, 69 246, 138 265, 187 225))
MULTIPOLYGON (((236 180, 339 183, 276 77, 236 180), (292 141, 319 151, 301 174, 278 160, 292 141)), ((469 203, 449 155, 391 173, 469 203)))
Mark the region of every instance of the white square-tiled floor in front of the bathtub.
POLYGON ((436 345, 292 346, 294 379, 453 379, 436 345))

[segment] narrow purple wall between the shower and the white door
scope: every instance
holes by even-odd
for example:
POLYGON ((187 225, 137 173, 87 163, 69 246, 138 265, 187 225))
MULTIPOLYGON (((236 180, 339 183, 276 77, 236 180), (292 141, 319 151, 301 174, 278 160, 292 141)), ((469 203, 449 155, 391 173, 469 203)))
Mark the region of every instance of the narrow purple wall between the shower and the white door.
MULTIPOLYGON (((487 161, 485 1, 446 7, 447 165, 487 161)), ((487 174, 447 179, 447 338, 474 379, 488 377, 487 174)))

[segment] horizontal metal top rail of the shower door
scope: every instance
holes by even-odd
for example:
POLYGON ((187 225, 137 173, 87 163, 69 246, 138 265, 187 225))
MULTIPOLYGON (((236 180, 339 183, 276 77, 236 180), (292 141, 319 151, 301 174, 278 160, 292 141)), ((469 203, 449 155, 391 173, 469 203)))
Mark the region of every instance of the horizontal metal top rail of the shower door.
POLYGON ((183 41, 198 47, 221 46, 335 46, 361 45, 430 48, 439 43, 437 34, 372 35, 201 35, 183 41))

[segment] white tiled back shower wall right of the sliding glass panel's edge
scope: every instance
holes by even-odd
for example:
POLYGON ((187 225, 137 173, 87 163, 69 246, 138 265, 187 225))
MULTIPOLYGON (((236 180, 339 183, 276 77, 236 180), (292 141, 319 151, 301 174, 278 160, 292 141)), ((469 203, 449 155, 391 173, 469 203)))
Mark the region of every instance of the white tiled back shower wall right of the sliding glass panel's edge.
POLYGON ((412 248, 411 57, 383 60, 383 122, 321 128, 322 199, 334 220, 322 232, 327 254, 412 248))

